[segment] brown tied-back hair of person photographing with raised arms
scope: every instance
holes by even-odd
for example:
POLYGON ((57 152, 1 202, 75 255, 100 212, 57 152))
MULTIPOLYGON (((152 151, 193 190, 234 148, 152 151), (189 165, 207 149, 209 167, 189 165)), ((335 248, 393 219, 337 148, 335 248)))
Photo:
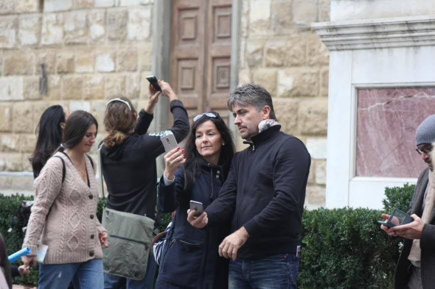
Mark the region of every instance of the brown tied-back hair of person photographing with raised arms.
POLYGON ((104 126, 108 134, 103 139, 106 147, 113 147, 124 141, 127 133, 136 125, 136 110, 128 97, 121 96, 122 100, 130 104, 130 108, 121 101, 112 101, 106 107, 104 126))

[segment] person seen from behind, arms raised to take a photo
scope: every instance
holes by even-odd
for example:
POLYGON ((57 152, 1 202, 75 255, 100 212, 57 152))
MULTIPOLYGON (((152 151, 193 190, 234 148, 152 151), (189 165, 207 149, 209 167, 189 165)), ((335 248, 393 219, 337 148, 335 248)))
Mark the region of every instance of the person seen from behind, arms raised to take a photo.
MULTIPOLYGON (((160 95, 160 91, 150 85, 150 100, 147 107, 139 112, 139 118, 127 97, 115 98, 107 103, 104 117, 107 135, 101 148, 103 175, 109 192, 107 207, 154 220, 157 216, 156 158, 165 151, 160 137, 172 133, 177 142, 181 142, 189 132, 189 119, 182 102, 167 82, 159 81, 159 85, 162 94, 169 97, 173 126, 159 133, 146 133, 160 95)), ((105 273, 104 287, 151 289, 155 270, 156 263, 151 257, 148 258, 143 280, 105 273)))

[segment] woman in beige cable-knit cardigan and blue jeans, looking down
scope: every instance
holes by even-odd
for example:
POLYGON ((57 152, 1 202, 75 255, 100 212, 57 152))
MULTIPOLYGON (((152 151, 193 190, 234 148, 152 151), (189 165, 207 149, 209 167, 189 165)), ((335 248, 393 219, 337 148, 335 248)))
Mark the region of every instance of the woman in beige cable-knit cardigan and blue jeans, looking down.
POLYGON ((39 289, 66 289, 71 281, 76 289, 103 288, 101 245, 108 247, 107 232, 96 216, 95 162, 86 155, 97 129, 90 113, 73 112, 62 147, 35 180, 35 204, 23 244, 31 254, 23 263, 35 266, 38 244, 48 246, 39 267, 39 289))

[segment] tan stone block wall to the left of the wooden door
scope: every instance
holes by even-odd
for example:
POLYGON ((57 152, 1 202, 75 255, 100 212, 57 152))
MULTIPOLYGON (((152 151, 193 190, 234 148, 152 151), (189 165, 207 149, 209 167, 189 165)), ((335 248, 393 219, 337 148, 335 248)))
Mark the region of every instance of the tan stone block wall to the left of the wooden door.
MULTIPOLYGON (((127 95, 143 107, 152 6, 153 0, 0 0, 0 172, 32 170, 27 159, 49 105, 90 111, 99 138, 107 99, 127 95), (47 94, 39 92, 41 63, 47 94)), ((0 175, 0 188, 32 188, 32 178, 19 185, 23 178, 0 175)))

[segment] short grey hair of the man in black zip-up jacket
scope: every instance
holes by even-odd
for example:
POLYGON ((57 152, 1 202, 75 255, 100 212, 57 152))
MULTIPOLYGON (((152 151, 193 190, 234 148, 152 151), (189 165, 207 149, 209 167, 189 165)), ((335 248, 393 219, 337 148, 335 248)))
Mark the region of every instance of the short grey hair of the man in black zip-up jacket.
POLYGON ((275 111, 273 110, 272 97, 270 96, 270 93, 258 84, 245 84, 234 90, 228 98, 228 109, 232 111, 233 106, 236 103, 242 106, 250 104, 258 111, 267 105, 270 107, 270 118, 277 120, 275 111))

